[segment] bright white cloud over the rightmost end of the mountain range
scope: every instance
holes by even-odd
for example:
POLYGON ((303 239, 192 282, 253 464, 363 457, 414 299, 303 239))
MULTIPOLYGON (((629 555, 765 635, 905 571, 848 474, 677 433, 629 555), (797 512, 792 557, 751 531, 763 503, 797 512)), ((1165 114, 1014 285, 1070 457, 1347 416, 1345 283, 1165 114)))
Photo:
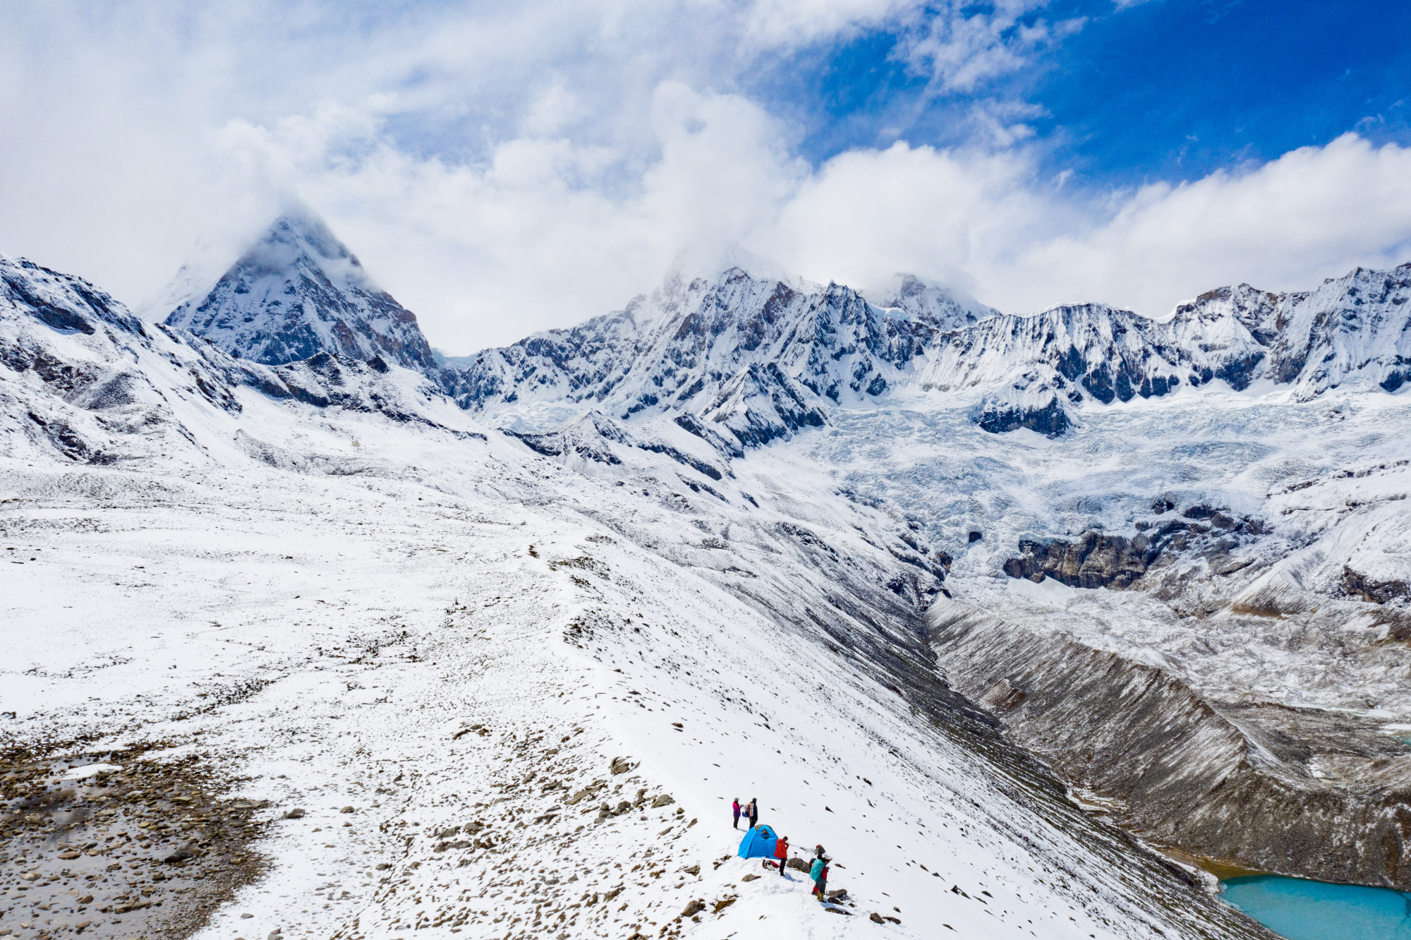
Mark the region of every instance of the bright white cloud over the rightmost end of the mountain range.
POLYGON ((1164 315, 1219 284, 1312 287, 1350 268, 1411 260, 1411 150, 1346 134, 1242 174, 1146 186, 1084 231, 1030 247, 1019 260, 1041 291, 1096 296, 1164 315))

